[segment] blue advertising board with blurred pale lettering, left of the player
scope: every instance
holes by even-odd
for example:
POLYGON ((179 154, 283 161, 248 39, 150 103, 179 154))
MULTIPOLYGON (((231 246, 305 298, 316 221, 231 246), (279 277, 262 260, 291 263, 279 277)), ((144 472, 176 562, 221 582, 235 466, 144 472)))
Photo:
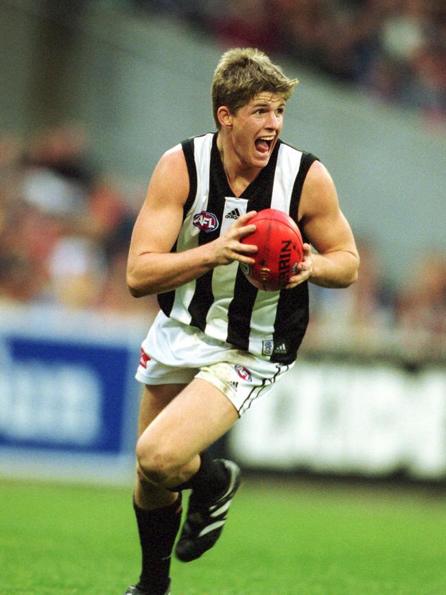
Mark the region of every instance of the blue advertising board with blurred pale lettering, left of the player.
POLYGON ((17 336, 3 349, 11 390, 0 397, 0 445, 119 452, 128 349, 17 336))

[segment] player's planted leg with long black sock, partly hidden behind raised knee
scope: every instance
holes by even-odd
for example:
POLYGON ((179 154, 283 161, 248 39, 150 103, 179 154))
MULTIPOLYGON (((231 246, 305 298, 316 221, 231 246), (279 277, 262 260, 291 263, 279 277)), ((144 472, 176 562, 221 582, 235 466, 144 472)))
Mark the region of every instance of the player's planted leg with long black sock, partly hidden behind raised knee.
MULTIPOLYGON (((156 418, 184 384, 145 386, 138 419, 138 434, 156 418)), ((134 487, 134 513, 141 544, 141 576, 126 595, 165 595, 169 593, 172 548, 181 520, 181 494, 154 485, 137 467, 134 487)))

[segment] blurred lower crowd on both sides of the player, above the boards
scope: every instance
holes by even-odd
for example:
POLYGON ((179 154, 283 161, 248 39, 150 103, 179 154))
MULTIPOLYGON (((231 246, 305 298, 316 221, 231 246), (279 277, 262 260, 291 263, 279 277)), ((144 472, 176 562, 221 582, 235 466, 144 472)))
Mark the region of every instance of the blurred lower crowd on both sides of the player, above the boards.
MULTIPOLYGON (((126 288, 145 188, 138 200, 130 200, 132 192, 91 163, 78 126, 44 130, 26 142, 0 136, 0 303, 152 318, 156 299, 134 299, 126 288)), ((313 329, 305 342, 344 338, 382 349, 394 338, 412 352, 446 354, 446 253, 424 254, 396 290, 373 241, 360 239, 359 247, 357 283, 342 291, 311 285, 313 329)))

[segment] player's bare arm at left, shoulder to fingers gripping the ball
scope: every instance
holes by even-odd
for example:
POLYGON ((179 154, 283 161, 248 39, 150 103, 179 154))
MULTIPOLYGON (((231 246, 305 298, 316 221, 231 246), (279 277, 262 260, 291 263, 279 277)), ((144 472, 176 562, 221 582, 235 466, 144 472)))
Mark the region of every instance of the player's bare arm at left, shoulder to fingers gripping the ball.
POLYGON ((165 153, 154 170, 147 197, 134 224, 127 265, 127 285, 134 297, 175 289, 218 265, 234 260, 253 264, 255 246, 239 240, 254 231, 248 220, 255 211, 239 218, 217 240, 170 253, 181 224, 189 194, 189 176, 183 150, 177 145, 165 153))

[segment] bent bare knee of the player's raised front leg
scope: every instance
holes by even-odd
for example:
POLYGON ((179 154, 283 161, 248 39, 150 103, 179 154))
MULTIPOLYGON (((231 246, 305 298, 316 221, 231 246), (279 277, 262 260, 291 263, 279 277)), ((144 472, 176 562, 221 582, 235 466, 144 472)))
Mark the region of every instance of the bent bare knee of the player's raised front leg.
POLYGON ((178 469, 174 452, 141 440, 137 443, 137 460, 139 477, 159 486, 168 485, 178 469))

